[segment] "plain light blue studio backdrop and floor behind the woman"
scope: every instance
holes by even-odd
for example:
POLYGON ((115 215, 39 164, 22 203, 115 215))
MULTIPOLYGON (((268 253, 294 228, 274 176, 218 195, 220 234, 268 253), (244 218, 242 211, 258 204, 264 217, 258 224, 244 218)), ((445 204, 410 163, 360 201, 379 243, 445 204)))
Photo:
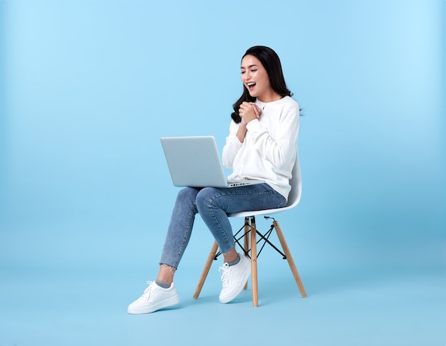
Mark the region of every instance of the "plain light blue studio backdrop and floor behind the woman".
POLYGON ((445 345, 445 16, 440 0, 0 1, 0 345, 445 345), (303 196, 277 219, 308 298, 265 251, 259 308, 250 290, 218 303, 217 265, 192 300, 198 218, 182 303, 127 315, 178 191, 160 137, 222 148, 254 45, 303 108, 303 196))

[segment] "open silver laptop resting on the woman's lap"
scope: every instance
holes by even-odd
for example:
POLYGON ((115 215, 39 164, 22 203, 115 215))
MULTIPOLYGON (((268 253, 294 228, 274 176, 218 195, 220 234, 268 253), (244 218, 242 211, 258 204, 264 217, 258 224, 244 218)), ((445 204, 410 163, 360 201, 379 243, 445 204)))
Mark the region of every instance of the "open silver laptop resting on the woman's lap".
POLYGON ((240 187, 264 182, 228 182, 212 136, 162 137, 161 144, 176 187, 240 187))

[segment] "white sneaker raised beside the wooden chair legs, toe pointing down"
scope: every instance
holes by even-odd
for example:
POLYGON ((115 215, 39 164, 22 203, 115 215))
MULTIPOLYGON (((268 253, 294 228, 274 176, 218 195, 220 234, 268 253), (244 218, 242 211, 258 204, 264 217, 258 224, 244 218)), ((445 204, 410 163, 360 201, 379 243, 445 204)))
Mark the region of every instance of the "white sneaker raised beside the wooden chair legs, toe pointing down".
POLYGON ((240 261, 234 266, 224 263, 219 271, 222 271, 223 288, 219 295, 220 303, 226 304, 242 292, 244 285, 251 275, 251 261, 239 253, 240 261))

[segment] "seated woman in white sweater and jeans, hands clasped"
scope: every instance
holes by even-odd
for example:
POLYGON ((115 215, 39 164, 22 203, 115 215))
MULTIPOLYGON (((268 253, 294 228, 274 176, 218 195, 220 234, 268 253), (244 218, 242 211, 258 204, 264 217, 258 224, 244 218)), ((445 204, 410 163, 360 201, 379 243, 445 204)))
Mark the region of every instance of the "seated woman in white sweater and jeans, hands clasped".
POLYGON ((263 184, 233 188, 180 190, 167 230, 156 281, 148 282, 128 313, 152 313, 179 302, 173 277, 200 214, 212 232, 224 265, 221 303, 237 297, 251 273, 249 259, 237 253, 227 213, 279 208, 286 205, 289 179, 296 159, 299 105, 286 87, 279 56, 271 48, 254 46, 242 57, 244 91, 234 104, 223 164, 229 179, 263 179, 263 184))

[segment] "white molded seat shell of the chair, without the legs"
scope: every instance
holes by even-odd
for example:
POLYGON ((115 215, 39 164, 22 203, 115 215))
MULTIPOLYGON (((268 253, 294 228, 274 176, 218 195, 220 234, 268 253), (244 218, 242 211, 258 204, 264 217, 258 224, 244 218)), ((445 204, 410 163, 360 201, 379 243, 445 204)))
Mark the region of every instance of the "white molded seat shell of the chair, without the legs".
POLYGON ((283 208, 256 210, 256 211, 241 211, 239 213, 228 214, 229 217, 246 217, 256 216, 264 214, 274 214, 284 211, 286 209, 294 208, 301 200, 302 194, 302 180, 301 180, 301 167, 299 165, 299 154, 296 154, 296 162, 294 162, 293 170, 291 171, 290 179, 291 191, 288 196, 286 206, 283 208))

